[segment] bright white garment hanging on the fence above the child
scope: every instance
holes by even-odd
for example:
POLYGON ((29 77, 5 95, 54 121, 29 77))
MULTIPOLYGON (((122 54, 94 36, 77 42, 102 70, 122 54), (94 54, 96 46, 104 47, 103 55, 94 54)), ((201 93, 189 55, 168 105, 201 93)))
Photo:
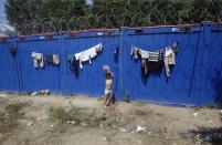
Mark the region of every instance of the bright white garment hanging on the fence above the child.
POLYGON ((86 50, 80 53, 75 54, 75 60, 80 61, 80 68, 83 69, 83 64, 82 62, 86 62, 89 61, 89 64, 92 64, 91 59, 95 58, 97 55, 97 52, 102 51, 102 43, 86 50))

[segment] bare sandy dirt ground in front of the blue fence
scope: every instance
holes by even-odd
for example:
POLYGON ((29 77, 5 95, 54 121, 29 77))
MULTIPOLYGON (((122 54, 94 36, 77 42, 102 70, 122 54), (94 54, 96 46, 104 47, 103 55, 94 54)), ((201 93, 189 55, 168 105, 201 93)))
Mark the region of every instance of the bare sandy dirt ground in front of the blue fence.
MULTIPOLYGON (((169 107, 139 102, 116 102, 115 110, 103 108, 103 101, 86 96, 18 96, 0 93, 0 113, 12 103, 27 103, 15 127, 0 134, 2 145, 194 145, 183 133, 221 131, 221 110, 169 107), (99 126, 70 125, 56 133, 50 122, 50 107, 72 106, 84 113, 106 116, 99 126), (197 116, 193 114, 198 113, 197 116), (33 125, 28 126, 30 122, 33 125), (146 127, 137 132, 137 126, 146 127)), ((1 121, 1 120, 0 120, 1 121)), ((1 124, 1 122, 0 122, 1 124)), ((201 143, 216 145, 220 143, 201 143)))

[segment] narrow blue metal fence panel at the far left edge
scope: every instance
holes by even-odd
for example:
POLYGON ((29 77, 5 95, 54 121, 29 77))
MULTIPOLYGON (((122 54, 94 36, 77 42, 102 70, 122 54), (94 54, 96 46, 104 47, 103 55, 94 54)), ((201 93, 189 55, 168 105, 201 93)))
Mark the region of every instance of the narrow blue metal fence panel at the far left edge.
POLYGON ((10 53, 11 42, 0 43, 0 90, 19 92, 17 58, 10 53))

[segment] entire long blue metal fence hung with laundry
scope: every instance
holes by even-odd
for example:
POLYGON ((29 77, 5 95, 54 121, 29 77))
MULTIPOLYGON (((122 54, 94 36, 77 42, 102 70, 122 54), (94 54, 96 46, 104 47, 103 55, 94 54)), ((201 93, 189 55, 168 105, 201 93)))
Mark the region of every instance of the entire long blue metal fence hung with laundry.
POLYGON ((118 100, 204 105, 222 103, 222 27, 195 24, 154 28, 123 28, 119 30, 92 30, 59 34, 1 38, 0 90, 31 92, 50 90, 53 93, 101 96, 105 89, 103 65, 108 64, 115 75, 113 91, 118 100), (158 51, 179 42, 176 65, 167 79, 165 68, 160 73, 144 76, 141 61, 130 55, 131 45, 147 51, 158 51), (84 63, 83 70, 67 62, 75 54, 98 43, 103 51, 84 63), (17 49, 17 54, 10 53, 17 49), (44 63, 35 69, 32 52, 59 54, 60 65, 44 63))

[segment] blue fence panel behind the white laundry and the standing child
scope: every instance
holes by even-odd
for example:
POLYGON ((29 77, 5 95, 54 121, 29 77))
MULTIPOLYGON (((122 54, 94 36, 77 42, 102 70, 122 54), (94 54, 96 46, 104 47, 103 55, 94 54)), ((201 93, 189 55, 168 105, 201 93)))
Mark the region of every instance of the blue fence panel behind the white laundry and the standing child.
POLYGON ((103 50, 98 55, 92 59, 92 64, 83 63, 83 69, 78 68, 78 75, 75 75, 73 66, 67 63, 66 73, 66 91, 72 93, 84 93, 91 96, 99 96, 105 90, 105 73, 103 65, 110 66, 115 79, 113 82, 113 91, 117 94, 117 72, 118 72, 118 55, 115 55, 115 48, 119 46, 117 35, 98 37, 98 32, 80 33, 80 38, 66 38, 64 40, 66 54, 75 54, 85 51, 94 45, 102 43, 103 50), (88 37, 91 35, 91 37, 88 37))

